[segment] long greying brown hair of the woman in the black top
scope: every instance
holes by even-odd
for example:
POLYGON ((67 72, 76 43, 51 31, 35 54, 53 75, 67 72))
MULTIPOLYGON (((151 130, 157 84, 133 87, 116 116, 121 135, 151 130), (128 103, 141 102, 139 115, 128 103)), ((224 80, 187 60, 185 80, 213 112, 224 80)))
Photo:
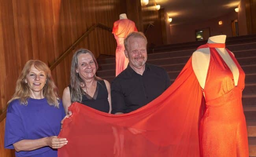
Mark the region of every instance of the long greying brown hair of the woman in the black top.
MULTIPOLYGON (((86 84, 84 80, 79 76, 78 73, 76 73, 76 69, 79 68, 79 63, 78 63, 78 56, 80 54, 86 54, 89 53, 93 57, 93 61, 95 62, 96 65, 96 71, 98 70, 98 63, 96 58, 94 57, 93 53, 89 51, 88 49, 78 49, 72 58, 72 63, 71 63, 71 71, 70 71, 70 99, 71 102, 82 102, 82 94, 84 93, 82 86, 86 87, 86 84)), ((95 80, 100 80, 99 77, 94 76, 95 80)))

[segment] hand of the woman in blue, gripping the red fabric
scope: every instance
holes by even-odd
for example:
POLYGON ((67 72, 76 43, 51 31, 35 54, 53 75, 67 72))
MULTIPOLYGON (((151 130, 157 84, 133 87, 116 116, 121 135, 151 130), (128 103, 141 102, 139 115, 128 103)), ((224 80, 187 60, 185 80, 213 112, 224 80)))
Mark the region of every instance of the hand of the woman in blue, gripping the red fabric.
POLYGON ((58 149, 61 148, 63 146, 65 146, 68 141, 65 138, 58 138, 58 136, 50 136, 47 137, 47 146, 50 146, 53 149, 58 149))

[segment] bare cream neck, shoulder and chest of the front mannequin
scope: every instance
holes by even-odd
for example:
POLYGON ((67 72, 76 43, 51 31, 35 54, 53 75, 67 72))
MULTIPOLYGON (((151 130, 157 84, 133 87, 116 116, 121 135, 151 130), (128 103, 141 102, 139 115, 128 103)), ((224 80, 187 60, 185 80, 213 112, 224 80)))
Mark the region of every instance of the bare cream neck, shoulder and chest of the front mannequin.
MULTIPOLYGON (((224 44, 225 40, 226 40, 226 35, 217 35, 217 36, 210 37, 208 39, 208 43, 224 44)), ((231 72, 233 73, 234 83, 237 86, 237 82, 239 78, 239 70, 234 60, 232 60, 231 56, 229 55, 229 53, 226 51, 225 48, 216 48, 216 50, 221 56, 221 58, 223 58, 224 62, 229 67, 231 72)), ((204 89, 204 86, 205 86, 209 63, 210 63, 209 48, 198 49, 193 53, 192 68, 202 89, 204 89)))

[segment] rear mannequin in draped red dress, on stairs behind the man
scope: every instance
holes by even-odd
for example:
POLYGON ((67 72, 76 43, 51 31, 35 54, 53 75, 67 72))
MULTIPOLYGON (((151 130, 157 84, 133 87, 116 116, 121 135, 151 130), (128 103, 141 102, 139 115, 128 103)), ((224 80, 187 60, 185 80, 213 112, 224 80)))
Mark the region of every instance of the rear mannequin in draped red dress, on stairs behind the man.
POLYGON ((115 39, 117 40, 117 49, 115 51, 116 61, 116 76, 119 75, 128 65, 129 60, 124 55, 124 38, 126 38, 131 32, 137 31, 133 21, 127 19, 126 14, 119 15, 120 20, 114 23, 113 31, 115 39))

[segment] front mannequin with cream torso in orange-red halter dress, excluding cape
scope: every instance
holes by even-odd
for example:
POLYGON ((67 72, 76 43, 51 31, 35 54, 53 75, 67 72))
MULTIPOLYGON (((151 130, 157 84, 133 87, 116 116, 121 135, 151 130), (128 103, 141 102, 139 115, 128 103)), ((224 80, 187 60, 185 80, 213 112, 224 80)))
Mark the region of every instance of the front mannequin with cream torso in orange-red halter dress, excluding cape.
POLYGON ((225 48, 226 35, 210 37, 192 55, 205 111, 200 120, 201 157, 248 157, 248 139, 242 106, 245 73, 225 48))

